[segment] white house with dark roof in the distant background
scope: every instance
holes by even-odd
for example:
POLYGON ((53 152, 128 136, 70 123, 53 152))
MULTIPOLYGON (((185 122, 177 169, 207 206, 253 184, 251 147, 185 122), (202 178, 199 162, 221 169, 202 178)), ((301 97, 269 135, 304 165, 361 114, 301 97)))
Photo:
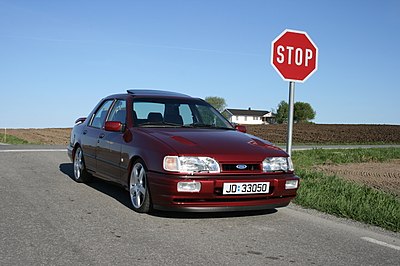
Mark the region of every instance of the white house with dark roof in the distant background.
POLYGON ((275 114, 264 110, 225 109, 222 114, 231 122, 246 125, 265 125, 275 123, 275 114))

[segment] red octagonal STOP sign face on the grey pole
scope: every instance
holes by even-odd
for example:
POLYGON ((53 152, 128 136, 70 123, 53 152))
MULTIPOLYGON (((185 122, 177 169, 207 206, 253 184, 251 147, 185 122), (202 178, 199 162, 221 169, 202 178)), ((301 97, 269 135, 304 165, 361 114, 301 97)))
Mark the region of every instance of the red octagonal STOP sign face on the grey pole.
POLYGON ((271 64, 287 81, 304 82, 318 64, 318 47, 303 31, 284 30, 271 45, 271 64))

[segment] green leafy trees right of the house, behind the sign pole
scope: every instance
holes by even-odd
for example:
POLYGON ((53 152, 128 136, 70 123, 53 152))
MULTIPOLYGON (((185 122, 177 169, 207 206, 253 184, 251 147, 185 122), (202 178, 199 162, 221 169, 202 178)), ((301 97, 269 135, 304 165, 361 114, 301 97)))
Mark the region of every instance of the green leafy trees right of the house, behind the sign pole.
MULTIPOLYGON (((281 101, 276 110, 276 122, 278 124, 287 123, 289 114, 289 104, 281 101)), ((295 123, 310 122, 315 118, 316 112, 309 103, 296 102, 294 103, 293 120, 295 123)))

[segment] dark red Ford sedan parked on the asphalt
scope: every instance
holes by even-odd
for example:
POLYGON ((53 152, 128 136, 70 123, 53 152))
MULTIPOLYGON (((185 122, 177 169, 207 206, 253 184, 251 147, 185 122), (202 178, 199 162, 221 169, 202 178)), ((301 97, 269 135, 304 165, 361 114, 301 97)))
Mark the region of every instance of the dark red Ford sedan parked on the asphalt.
POLYGON ((68 155, 77 182, 116 182, 137 212, 287 206, 299 185, 290 157, 243 131, 201 99, 128 90, 76 121, 68 155))

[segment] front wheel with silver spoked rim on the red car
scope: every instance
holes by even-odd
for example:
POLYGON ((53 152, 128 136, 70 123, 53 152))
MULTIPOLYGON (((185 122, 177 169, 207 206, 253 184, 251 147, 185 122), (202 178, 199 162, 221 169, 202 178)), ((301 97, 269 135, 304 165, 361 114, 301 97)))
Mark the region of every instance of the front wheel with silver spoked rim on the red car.
POLYGON ((136 212, 149 213, 152 210, 147 168, 142 160, 133 163, 129 177, 129 196, 136 212))

